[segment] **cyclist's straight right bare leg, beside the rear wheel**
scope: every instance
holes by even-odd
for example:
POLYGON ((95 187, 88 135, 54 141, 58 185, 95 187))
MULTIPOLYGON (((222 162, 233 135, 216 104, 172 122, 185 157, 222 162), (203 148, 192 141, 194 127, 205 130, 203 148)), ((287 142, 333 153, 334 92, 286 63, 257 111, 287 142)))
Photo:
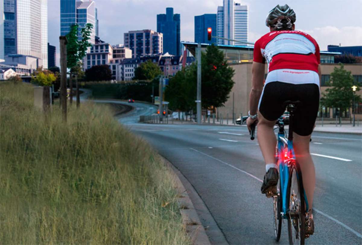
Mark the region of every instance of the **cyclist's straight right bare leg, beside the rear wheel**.
POLYGON ((300 170, 302 170, 303 186, 307 194, 309 209, 312 210, 316 176, 312 156, 309 152, 310 138, 311 135, 300 136, 293 132, 293 148, 300 170))

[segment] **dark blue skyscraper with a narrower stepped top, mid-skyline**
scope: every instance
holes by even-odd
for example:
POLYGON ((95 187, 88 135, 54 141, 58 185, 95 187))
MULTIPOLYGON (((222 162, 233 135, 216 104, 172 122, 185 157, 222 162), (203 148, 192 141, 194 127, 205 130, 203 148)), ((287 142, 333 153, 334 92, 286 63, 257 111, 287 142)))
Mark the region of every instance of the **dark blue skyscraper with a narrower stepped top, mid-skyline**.
POLYGON ((180 14, 173 14, 173 8, 166 8, 166 14, 157 14, 157 32, 163 34, 163 51, 180 55, 180 14))

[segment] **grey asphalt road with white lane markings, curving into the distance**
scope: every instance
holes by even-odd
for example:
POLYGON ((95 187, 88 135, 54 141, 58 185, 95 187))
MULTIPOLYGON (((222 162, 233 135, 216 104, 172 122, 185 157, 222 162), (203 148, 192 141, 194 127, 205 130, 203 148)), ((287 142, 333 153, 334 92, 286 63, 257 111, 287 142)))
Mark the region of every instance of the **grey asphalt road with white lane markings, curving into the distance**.
MULTIPOLYGON (((140 124, 139 115, 156 107, 134 106, 119 122, 182 172, 230 244, 276 244, 272 200, 260 193, 265 165, 246 127, 140 124)), ((316 132, 312 139, 315 235, 306 243, 362 244, 362 137, 316 132)), ((279 244, 288 244, 286 221, 279 244)))

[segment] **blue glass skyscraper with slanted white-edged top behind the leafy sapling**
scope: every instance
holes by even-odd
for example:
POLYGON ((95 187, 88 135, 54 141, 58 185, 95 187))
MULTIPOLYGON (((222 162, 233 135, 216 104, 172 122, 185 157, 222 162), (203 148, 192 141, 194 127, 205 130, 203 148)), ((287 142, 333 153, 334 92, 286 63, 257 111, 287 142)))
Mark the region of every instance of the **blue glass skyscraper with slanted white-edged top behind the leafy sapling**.
MULTIPOLYGON (((89 43, 95 43, 98 32, 97 9, 94 1, 60 0, 60 35, 69 33, 71 25, 79 25, 79 30, 90 23, 93 25, 89 43)), ((78 34, 80 39, 80 33, 78 34)))

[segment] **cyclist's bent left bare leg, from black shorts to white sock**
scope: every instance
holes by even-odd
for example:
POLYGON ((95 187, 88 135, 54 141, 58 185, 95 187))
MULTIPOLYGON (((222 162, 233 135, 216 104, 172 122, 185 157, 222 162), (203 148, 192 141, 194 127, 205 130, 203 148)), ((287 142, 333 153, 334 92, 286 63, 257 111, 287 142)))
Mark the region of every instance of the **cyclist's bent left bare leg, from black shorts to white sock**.
POLYGON ((258 112, 258 121, 258 142, 265 164, 275 163, 277 138, 275 137, 273 127, 276 121, 265 119, 260 112, 258 112))

